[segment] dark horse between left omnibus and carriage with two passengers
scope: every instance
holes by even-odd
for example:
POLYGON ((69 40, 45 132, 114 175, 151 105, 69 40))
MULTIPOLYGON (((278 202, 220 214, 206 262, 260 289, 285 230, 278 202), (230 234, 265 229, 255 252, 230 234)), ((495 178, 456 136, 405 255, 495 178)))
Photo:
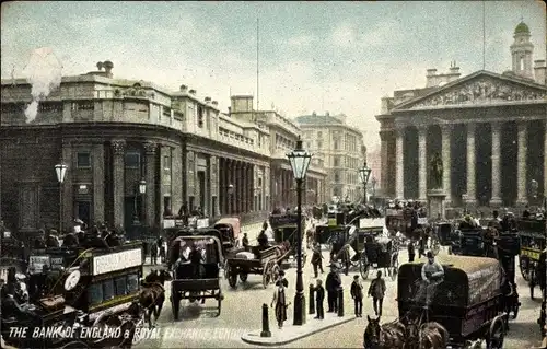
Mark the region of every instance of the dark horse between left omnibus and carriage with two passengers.
POLYGON ((171 281, 167 270, 152 270, 142 282, 142 290, 139 294, 139 303, 144 309, 144 321, 148 322, 150 327, 152 325, 152 313, 154 314, 154 322, 160 317, 162 312, 163 302, 165 302, 165 289, 163 286, 165 281, 171 281))

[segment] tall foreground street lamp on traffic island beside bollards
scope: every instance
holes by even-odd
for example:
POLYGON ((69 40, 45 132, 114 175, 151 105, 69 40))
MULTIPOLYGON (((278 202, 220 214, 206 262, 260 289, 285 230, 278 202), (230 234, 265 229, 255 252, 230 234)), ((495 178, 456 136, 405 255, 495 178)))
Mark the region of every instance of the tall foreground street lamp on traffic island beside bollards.
POLYGON ((296 294, 294 295, 294 323, 305 324, 305 296, 304 281, 302 279, 302 183, 306 177, 307 166, 312 154, 302 149, 302 139, 299 137, 296 149, 287 154, 291 163, 294 179, 296 179, 296 203, 298 203, 298 246, 296 246, 296 294))

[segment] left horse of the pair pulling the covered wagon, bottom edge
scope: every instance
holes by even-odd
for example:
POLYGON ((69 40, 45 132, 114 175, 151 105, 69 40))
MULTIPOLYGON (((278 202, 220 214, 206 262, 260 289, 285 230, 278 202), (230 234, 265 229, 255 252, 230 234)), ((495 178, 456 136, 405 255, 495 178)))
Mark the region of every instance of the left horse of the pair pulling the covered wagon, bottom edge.
POLYGON ((366 315, 369 324, 363 334, 365 349, 403 349, 406 342, 406 327, 399 322, 380 325, 380 316, 375 319, 366 315))

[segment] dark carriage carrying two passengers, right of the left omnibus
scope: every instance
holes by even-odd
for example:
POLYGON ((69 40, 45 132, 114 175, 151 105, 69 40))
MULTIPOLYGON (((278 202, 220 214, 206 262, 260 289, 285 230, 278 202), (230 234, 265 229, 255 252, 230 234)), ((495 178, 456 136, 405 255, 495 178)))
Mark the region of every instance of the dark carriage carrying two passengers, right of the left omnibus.
POLYGON ((224 299, 220 287, 220 266, 223 263, 220 232, 213 229, 181 230, 170 239, 168 265, 173 274, 171 304, 178 319, 181 301, 206 299, 217 301, 220 315, 224 299))

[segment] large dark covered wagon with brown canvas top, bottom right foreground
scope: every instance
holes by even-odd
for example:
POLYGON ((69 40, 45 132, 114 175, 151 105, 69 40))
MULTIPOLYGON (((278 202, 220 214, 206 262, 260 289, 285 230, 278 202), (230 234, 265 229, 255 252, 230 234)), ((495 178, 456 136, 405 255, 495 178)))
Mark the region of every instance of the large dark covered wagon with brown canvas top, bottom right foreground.
POLYGON ((423 263, 400 266, 397 288, 400 321, 407 328, 416 329, 430 322, 442 325, 452 348, 469 348, 472 341, 484 339, 487 348, 503 348, 507 304, 512 299, 499 261, 466 256, 440 256, 438 261, 444 268, 444 278, 434 294, 430 294, 430 304, 416 296, 423 282, 423 263))

